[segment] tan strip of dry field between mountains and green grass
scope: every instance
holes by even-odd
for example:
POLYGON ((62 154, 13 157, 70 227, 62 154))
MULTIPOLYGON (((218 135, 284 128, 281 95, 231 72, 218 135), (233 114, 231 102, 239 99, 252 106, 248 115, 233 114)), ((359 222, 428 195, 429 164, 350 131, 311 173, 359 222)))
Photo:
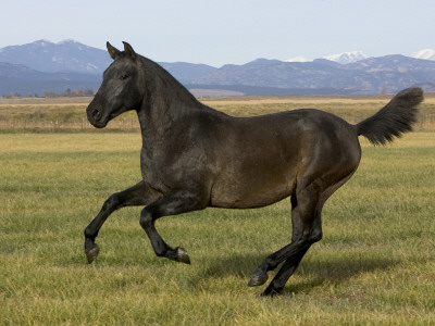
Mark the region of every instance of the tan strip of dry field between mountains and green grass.
MULTIPOLYGON (((300 108, 332 112, 357 123, 387 103, 391 95, 361 97, 234 97, 203 98, 201 101, 235 116, 274 113, 300 108)), ((91 98, 0 99, 0 133, 92 133, 87 122, 86 106, 91 98)), ((134 112, 109 123, 105 131, 138 131, 134 112)), ((426 93, 421 105, 417 130, 435 130, 435 93, 426 93)))

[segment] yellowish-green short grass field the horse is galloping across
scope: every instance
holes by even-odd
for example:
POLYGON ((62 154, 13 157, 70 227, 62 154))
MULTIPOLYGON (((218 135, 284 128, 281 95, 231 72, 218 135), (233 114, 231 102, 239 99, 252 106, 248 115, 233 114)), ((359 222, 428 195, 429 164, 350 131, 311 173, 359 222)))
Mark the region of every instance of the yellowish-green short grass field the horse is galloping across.
MULTIPOLYGON (((273 110, 278 100, 253 106, 273 110)), ((261 111, 236 101, 213 106, 233 112, 237 104, 261 111)), ((29 105, 24 115, 38 109, 16 105, 29 105)), ((433 104, 425 105, 431 116, 433 104)), ((284 293, 264 299, 263 287, 246 284, 265 255, 289 242, 288 200, 159 220, 163 238, 185 247, 191 265, 157 258, 139 226, 140 208, 123 209, 102 227, 100 256, 88 265, 83 229, 107 197, 140 179, 138 134, 20 130, 0 134, 0 325, 435 323, 433 131, 385 148, 362 140, 360 168, 326 202, 324 238, 284 293)))

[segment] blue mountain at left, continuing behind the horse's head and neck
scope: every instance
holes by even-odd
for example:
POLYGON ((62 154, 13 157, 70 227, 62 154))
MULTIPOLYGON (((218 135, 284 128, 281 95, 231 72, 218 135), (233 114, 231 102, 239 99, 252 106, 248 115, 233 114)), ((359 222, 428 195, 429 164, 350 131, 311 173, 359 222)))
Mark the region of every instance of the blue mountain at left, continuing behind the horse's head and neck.
MULTIPOLYGON (((38 40, 0 49, 0 96, 20 92, 42 96, 44 91, 94 89, 112 63, 105 50, 74 40, 58 43, 38 40)), ((215 67, 192 63, 160 63, 182 83, 207 75, 215 67)))

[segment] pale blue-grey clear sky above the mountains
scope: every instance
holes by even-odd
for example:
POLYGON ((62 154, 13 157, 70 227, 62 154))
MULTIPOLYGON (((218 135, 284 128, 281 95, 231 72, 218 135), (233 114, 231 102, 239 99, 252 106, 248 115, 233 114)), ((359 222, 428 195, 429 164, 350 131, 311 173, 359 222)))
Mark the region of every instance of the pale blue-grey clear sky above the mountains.
POLYGON ((434 0, 2 0, 0 48, 128 41, 159 62, 244 64, 435 49, 434 0))

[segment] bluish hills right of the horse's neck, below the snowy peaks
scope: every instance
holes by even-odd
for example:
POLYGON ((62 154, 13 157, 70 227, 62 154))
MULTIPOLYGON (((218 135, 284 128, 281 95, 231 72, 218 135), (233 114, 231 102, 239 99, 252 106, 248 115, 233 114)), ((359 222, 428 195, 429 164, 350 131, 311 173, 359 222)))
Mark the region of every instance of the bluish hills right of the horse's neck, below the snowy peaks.
MULTIPOLYGON (((396 92, 410 86, 435 90, 435 61, 386 55, 348 64, 325 59, 312 62, 261 60, 223 67, 192 80, 194 85, 239 85, 301 89, 344 90, 351 93, 396 92)), ((340 91, 341 93, 341 91, 340 91)))

